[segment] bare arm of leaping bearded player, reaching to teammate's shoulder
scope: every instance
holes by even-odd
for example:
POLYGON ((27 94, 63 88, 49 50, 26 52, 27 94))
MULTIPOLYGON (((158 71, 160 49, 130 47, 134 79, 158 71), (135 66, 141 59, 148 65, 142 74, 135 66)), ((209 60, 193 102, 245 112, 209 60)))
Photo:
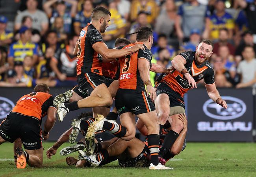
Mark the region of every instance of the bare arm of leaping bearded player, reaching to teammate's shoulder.
POLYGON ((93 49, 99 53, 104 59, 119 58, 124 55, 136 52, 138 50, 145 50, 143 44, 137 44, 131 48, 125 48, 122 50, 109 49, 104 42, 97 42, 93 45, 93 49))

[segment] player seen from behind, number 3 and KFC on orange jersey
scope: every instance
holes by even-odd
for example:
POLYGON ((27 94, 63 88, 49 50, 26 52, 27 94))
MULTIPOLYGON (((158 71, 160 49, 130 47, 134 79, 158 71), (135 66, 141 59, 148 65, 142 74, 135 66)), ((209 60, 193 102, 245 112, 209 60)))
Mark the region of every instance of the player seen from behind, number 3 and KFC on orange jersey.
MULTIPOLYGON (((152 30, 148 27, 139 28, 136 42, 123 48, 130 48, 136 44, 143 44, 145 50, 139 50, 119 58, 121 70, 119 89, 115 97, 115 107, 120 115, 122 125, 106 121, 104 116, 98 115, 95 122, 89 127, 85 137, 87 153, 93 153, 94 133, 103 128, 124 140, 133 139, 136 129, 134 121, 135 115, 137 115, 148 129, 148 145, 152 162, 150 169, 169 169, 162 166, 158 160, 159 124, 152 102, 156 98, 156 92, 152 87, 149 76, 152 59, 150 48, 153 44, 152 30)), ((104 159, 103 156, 100 157, 101 160, 104 159)))

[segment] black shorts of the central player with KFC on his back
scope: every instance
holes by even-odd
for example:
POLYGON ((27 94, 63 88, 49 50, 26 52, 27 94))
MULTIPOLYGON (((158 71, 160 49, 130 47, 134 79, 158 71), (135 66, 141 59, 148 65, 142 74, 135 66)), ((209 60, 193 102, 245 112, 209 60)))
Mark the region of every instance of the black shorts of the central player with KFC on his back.
POLYGON ((138 115, 156 110, 152 100, 147 97, 145 91, 131 89, 117 90, 117 94, 115 95, 115 107, 119 115, 125 112, 132 112, 138 115))

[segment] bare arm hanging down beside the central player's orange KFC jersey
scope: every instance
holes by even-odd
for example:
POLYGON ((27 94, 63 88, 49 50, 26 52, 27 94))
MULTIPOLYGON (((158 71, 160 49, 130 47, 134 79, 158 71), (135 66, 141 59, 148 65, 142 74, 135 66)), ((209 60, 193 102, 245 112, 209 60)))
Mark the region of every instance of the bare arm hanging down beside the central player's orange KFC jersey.
POLYGON ((149 61, 145 58, 138 59, 138 69, 143 83, 146 85, 147 96, 150 96, 151 100, 156 100, 156 91, 152 86, 149 75, 149 61))

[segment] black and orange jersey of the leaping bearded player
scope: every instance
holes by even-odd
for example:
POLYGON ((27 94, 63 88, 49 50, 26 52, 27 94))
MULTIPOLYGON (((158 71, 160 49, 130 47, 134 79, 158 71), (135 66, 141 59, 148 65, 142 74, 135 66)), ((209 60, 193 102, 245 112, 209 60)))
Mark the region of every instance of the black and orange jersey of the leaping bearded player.
POLYGON ((93 49, 97 42, 103 42, 102 35, 92 24, 80 32, 76 58, 77 76, 85 73, 102 75, 102 56, 93 49))

